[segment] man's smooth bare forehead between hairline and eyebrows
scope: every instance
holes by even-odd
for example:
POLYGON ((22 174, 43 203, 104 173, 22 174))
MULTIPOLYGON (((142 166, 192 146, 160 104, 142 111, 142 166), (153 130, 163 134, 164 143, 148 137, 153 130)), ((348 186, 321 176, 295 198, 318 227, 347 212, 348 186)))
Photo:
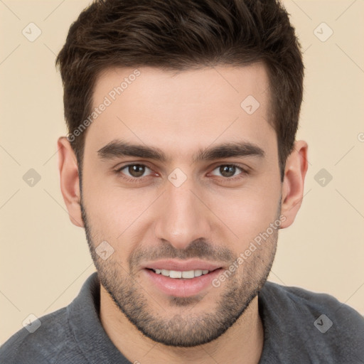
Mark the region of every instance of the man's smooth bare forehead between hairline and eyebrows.
POLYGON ((262 63, 178 72, 105 70, 95 83, 85 152, 95 153, 114 139, 165 147, 176 156, 190 151, 192 156, 214 141, 246 140, 267 149, 275 141, 268 89, 262 63))

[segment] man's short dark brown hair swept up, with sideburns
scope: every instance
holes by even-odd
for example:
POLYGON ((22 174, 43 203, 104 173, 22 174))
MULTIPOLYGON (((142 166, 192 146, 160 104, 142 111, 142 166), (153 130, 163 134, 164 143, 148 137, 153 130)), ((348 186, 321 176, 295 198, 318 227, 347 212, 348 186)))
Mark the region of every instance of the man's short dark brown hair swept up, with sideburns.
MULTIPOLYGON (((303 95, 300 48, 279 0, 95 0, 70 26, 55 61, 68 132, 90 115, 95 80, 106 68, 188 70, 262 61, 283 181, 303 95)), ((86 132, 70 141, 80 170, 86 132)))

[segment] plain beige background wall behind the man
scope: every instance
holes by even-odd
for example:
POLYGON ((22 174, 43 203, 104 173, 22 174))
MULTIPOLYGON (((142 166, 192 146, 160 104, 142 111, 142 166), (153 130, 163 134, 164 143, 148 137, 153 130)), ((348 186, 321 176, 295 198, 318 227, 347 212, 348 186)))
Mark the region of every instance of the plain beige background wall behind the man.
MULTIPOLYGON (((84 230, 65 210, 56 155, 66 129, 55 54, 87 4, 0 1, 0 343, 29 314, 68 305, 95 271, 84 230), (33 42, 22 34, 31 22, 42 32, 33 42), (33 187, 23 181, 30 168, 41 176, 33 187)), ((284 5, 305 50, 298 139, 309 143, 309 171, 296 221, 279 233, 269 280, 332 294, 364 314, 364 2, 284 5), (325 42, 314 33, 322 22, 333 30, 325 42), (321 168, 333 176, 326 186, 315 180, 321 168)), ((321 25, 316 34, 328 31, 321 25)))

